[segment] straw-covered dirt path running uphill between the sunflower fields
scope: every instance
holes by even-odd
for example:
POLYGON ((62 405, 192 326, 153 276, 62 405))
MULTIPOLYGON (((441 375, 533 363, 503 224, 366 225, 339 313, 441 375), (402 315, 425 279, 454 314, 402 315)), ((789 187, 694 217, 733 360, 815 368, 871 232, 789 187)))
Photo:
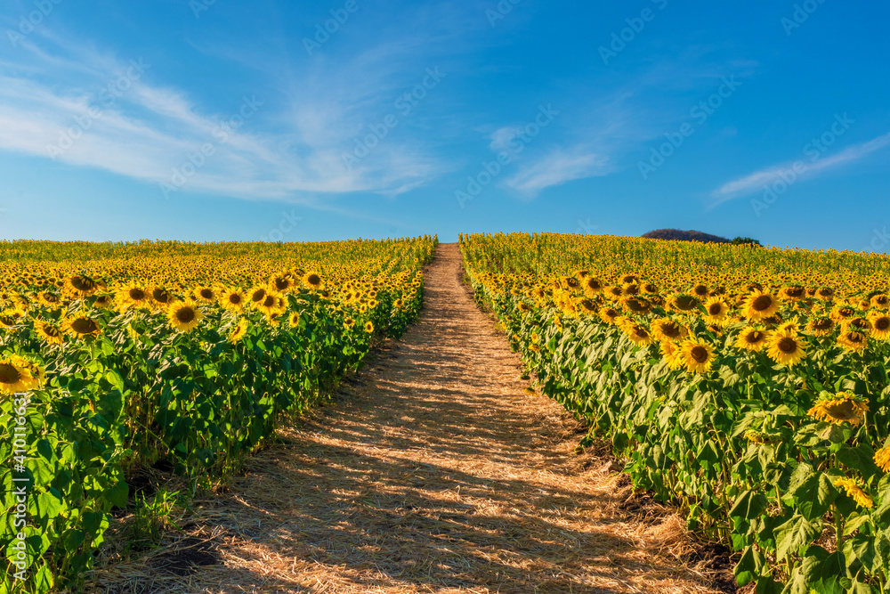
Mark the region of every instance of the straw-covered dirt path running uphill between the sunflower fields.
POLYGON ((134 587, 114 591, 713 591, 677 568, 677 518, 628 511, 606 461, 572 453, 577 424, 523 394, 519 357, 462 273, 441 245, 405 337, 201 502, 185 542, 217 565, 118 566, 109 582, 134 587))

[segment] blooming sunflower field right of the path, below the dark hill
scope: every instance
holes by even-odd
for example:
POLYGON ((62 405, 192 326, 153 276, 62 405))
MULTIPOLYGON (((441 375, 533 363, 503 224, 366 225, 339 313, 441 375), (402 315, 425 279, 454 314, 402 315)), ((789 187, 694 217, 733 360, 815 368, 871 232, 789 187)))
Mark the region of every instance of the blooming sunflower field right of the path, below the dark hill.
POLYGON ((890 258, 558 234, 460 238, 477 300, 636 488, 758 593, 890 587, 890 258))

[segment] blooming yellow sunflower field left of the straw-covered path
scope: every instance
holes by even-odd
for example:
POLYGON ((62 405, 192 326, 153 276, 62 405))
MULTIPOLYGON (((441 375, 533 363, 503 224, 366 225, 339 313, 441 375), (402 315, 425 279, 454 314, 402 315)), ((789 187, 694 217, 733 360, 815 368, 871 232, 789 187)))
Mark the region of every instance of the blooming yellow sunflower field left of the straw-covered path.
POLYGON ((401 336, 436 243, 0 242, 0 591, 77 590, 138 468, 239 468, 401 336))

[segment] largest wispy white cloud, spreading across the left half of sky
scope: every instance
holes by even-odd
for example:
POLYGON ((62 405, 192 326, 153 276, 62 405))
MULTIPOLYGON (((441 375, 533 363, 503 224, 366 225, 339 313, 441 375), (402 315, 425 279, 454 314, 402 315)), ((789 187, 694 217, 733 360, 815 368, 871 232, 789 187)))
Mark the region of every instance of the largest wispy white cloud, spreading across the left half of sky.
MULTIPOLYGON (((358 167, 345 167, 352 136, 374 121, 368 116, 373 109, 356 106, 381 94, 374 81, 382 67, 375 70, 368 56, 360 60, 365 76, 350 65, 337 76, 307 72, 284 101, 258 98, 263 105, 256 115, 223 134, 221 123, 239 113, 240 96, 228 112, 214 113, 186 91, 158 82, 148 65, 112 100, 109 85, 126 74, 130 61, 70 40, 29 39, 24 49, 27 59, 0 76, 0 149, 6 151, 160 184, 171 183, 174 169, 209 142, 214 154, 182 191, 306 203, 317 193, 398 195, 443 170, 409 139, 387 139, 358 167)), ((274 93, 279 82, 264 92, 274 93)))

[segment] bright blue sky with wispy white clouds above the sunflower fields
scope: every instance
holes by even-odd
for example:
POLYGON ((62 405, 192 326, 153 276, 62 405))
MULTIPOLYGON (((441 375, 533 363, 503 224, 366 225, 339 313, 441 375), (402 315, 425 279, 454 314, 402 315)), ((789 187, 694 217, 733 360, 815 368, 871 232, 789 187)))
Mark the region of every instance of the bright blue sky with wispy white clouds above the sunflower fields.
POLYGON ((890 7, 578 4, 6 0, 0 237, 890 250, 890 7))

